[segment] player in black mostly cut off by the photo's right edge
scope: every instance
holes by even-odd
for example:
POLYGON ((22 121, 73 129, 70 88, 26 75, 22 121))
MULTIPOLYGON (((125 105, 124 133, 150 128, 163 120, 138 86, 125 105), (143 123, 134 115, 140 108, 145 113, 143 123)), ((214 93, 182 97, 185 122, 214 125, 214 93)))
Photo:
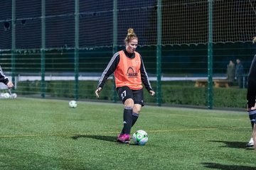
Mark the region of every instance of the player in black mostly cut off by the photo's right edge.
MULTIPOLYGON (((256 42, 256 37, 252 40, 253 43, 256 42)), ((256 98, 256 55, 252 60, 252 64, 250 66, 250 71, 248 74, 247 79, 247 112, 250 118, 250 123, 252 125, 252 137, 250 138, 250 141, 247 143, 247 147, 255 147, 254 145, 256 143, 256 126, 255 126, 255 120, 256 120, 256 104, 255 104, 255 98, 256 98)))

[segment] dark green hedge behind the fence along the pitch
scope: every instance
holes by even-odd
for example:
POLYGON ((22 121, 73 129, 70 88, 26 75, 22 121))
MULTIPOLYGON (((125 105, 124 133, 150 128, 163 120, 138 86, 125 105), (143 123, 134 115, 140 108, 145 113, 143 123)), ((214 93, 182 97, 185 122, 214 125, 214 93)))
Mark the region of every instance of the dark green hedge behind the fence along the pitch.
MULTIPOLYGON (((153 82, 152 86, 156 86, 153 82)), ((46 81, 46 97, 74 98, 73 81, 46 81)), ((79 98, 96 99, 95 89, 97 81, 80 81, 79 98)), ((17 93, 21 95, 40 96, 40 81, 20 81, 17 86, 17 93)), ((163 82, 161 88, 161 102, 166 105, 190 105, 207 106, 207 88, 193 86, 193 82, 163 82)), ((113 101, 114 97, 119 101, 113 89, 112 80, 108 80, 100 93, 100 99, 113 101), (115 94, 115 96, 113 95, 115 94)), ((146 103, 156 103, 156 96, 152 97, 144 90, 144 101, 146 103)), ((246 89, 213 88, 213 106, 225 108, 245 108, 246 89)))

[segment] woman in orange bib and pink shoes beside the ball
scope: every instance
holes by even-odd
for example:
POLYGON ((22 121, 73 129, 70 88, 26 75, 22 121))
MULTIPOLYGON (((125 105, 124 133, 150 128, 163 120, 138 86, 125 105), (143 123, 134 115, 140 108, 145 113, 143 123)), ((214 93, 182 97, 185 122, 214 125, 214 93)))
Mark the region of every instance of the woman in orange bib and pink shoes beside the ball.
POLYGON ((136 123, 141 108, 144 106, 142 83, 151 96, 154 96, 155 92, 149 83, 142 56, 135 52, 138 37, 132 28, 129 28, 124 42, 125 49, 113 55, 100 77, 95 94, 99 98, 105 81, 114 72, 117 94, 124 104, 123 128, 117 136, 117 141, 129 143, 132 126, 136 123))

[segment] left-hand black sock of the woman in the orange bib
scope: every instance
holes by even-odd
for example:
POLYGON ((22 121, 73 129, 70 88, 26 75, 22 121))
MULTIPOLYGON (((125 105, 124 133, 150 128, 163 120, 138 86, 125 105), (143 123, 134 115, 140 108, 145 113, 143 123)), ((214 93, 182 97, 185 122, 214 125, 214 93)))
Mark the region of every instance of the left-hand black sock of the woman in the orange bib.
POLYGON ((124 108, 124 127, 122 129, 122 134, 130 134, 132 129, 132 108, 124 108))

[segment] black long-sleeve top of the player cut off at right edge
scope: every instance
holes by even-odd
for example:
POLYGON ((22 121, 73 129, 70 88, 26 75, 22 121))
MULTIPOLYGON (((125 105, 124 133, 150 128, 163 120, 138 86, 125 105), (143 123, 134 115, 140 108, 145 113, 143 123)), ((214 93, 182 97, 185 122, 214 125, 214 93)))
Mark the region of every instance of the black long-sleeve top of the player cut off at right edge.
POLYGON ((250 72, 248 74, 248 85, 247 85, 247 105, 248 108, 255 106, 256 98, 256 55, 252 60, 250 66, 250 72))

